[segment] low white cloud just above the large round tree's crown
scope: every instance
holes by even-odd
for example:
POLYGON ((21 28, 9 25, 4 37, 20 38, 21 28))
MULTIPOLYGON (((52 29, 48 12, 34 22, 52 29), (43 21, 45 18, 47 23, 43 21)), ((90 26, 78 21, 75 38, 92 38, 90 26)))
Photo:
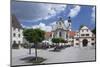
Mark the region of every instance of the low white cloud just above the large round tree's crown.
POLYGON ((45 25, 44 23, 40 23, 39 25, 34 25, 32 26, 33 29, 36 29, 36 28, 40 28, 41 30, 44 30, 46 32, 50 32, 52 30, 52 27, 49 26, 49 25, 45 25))

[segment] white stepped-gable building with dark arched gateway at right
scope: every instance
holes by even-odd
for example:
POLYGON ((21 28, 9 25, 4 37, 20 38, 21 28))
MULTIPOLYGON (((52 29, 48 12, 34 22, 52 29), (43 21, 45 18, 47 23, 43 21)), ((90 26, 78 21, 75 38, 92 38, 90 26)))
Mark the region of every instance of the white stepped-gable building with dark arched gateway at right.
POLYGON ((95 35, 87 26, 83 26, 77 34, 74 36, 74 45, 85 47, 85 46, 95 46, 95 35))

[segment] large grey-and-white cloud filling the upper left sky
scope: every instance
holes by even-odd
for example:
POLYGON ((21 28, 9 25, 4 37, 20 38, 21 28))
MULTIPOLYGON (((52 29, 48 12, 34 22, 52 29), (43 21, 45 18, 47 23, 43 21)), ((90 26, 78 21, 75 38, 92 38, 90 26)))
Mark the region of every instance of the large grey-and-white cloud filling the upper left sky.
POLYGON ((31 2, 12 2, 12 13, 22 20, 46 20, 64 11, 67 5, 31 2))

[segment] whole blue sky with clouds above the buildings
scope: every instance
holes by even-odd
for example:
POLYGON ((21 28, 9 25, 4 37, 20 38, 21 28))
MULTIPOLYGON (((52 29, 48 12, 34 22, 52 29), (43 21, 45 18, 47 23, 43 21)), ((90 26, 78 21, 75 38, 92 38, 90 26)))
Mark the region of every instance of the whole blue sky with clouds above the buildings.
POLYGON ((79 30, 80 25, 89 29, 95 27, 95 6, 19 2, 12 0, 11 14, 14 14, 22 27, 41 28, 51 31, 52 26, 62 17, 67 25, 68 17, 72 20, 72 31, 79 30))

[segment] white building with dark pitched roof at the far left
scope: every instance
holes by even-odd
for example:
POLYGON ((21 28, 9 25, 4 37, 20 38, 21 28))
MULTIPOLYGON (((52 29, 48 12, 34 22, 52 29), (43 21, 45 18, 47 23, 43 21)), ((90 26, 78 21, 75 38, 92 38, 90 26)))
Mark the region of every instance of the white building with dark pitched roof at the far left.
POLYGON ((22 44, 23 43, 23 29, 17 20, 15 15, 11 16, 11 44, 22 44))

